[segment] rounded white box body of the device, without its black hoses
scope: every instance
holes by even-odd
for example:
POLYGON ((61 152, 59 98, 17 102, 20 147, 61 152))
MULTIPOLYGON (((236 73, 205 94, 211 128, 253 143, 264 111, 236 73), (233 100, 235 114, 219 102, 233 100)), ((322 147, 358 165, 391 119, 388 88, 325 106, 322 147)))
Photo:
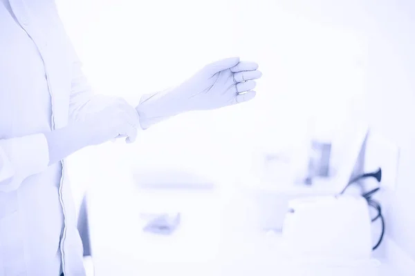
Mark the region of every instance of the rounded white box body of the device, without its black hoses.
POLYGON ((291 257, 371 257, 371 218, 363 197, 294 199, 290 201, 282 233, 291 257))

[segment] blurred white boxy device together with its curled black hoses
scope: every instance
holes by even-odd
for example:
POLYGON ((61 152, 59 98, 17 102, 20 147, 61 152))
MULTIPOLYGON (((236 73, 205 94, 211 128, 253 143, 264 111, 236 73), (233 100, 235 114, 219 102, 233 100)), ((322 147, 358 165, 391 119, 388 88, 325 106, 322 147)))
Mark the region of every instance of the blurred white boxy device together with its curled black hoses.
POLYGON ((371 198, 380 188, 362 192, 362 195, 345 194, 352 184, 368 177, 380 182, 381 168, 354 177, 337 195, 291 200, 282 230, 288 257, 314 259, 315 262, 309 264, 311 267, 320 265, 321 268, 334 262, 339 269, 354 268, 355 272, 350 275, 380 275, 379 262, 371 255, 385 233, 380 204, 371 198), (369 206, 377 211, 373 218, 369 206), (378 219, 382 231, 374 245, 371 224, 378 219))

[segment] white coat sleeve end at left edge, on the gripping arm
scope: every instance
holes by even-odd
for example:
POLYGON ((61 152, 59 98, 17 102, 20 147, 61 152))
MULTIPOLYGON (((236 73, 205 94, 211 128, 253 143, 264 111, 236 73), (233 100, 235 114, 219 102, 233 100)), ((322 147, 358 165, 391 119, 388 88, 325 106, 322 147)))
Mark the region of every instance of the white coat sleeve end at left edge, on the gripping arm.
POLYGON ((0 139, 0 192, 19 188, 24 179, 48 168, 48 141, 43 134, 0 139))

